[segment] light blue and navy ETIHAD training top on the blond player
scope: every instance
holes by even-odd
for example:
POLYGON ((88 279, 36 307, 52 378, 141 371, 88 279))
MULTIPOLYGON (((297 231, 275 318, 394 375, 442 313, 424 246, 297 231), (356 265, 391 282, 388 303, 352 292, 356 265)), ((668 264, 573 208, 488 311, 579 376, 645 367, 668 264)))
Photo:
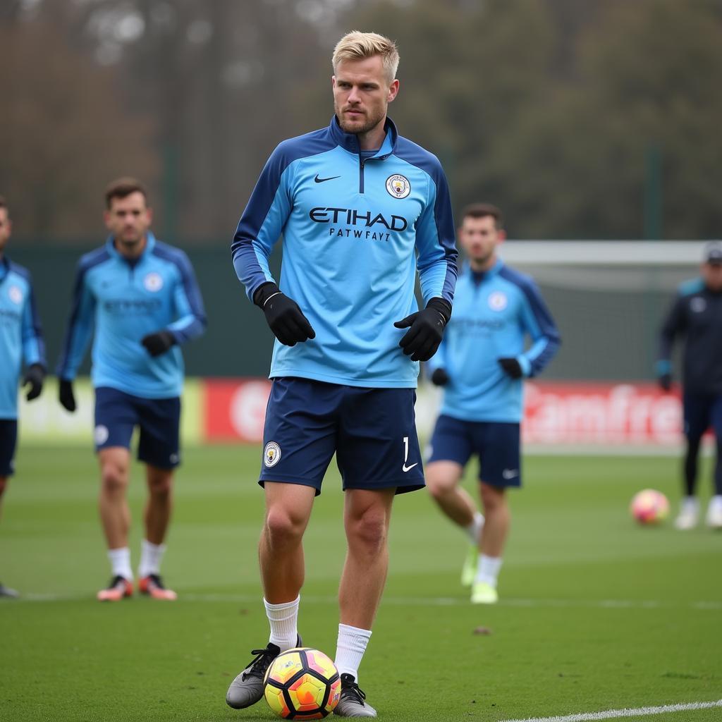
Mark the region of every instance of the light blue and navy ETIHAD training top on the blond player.
POLYGON ((231 249, 248 297, 275 282, 269 256, 283 236, 279 287, 300 305, 316 338, 274 344, 271 378, 414 388, 418 362, 404 356, 394 321, 424 303, 452 303, 456 247, 451 201, 438 159, 399 136, 373 157, 336 117, 286 140, 266 162, 231 249))

